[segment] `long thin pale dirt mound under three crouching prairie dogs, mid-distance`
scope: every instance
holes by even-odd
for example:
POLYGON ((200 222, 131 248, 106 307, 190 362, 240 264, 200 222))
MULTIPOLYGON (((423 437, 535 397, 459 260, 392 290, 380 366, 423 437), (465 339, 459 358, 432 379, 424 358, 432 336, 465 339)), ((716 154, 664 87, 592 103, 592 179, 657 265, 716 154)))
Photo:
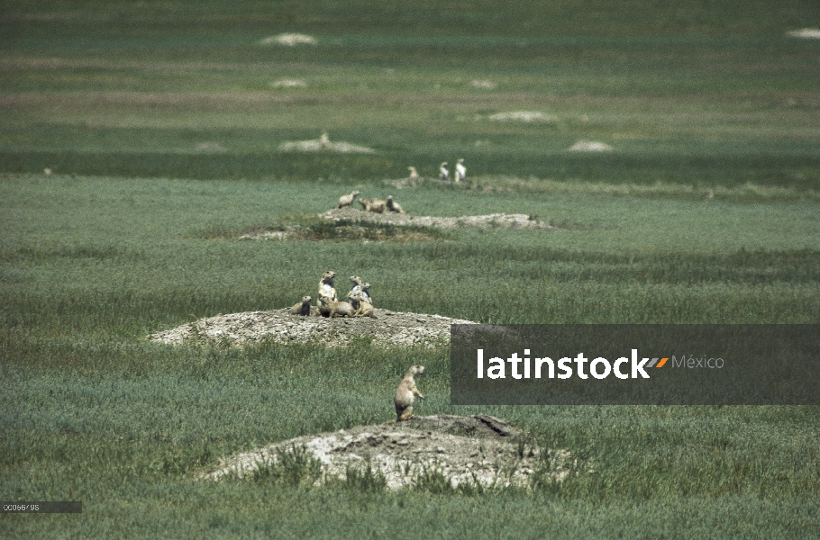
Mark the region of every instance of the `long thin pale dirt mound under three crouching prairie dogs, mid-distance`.
POLYGON ((488 214, 484 216, 461 216, 459 218, 435 218, 433 216, 412 216, 396 212, 376 213, 362 211, 351 207, 338 208, 319 214, 320 218, 333 221, 368 221, 398 226, 438 227, 455 229, 459 227, 477 227, 479 229, 554 229, 527 214, 488 214))

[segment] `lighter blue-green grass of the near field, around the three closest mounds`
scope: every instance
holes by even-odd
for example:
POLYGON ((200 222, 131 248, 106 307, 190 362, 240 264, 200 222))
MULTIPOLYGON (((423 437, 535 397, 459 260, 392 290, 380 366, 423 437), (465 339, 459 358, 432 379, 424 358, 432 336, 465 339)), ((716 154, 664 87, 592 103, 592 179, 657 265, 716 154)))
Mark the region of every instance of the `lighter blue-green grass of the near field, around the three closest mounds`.
POLYGON ((308 222, 343 192, 60 175, 5 175, 0 188, 3 498, 85 505, 78 518, 7 517, 13 536, 333 537, 340 523, 347 536, 390 536, 414 521, 442 536, 817 530, 816 408, 451 407, 447 350, 142 339, 218 312, 285 307, 325 268, 368 279, 380 307, 480 321, 816 322, 813 202, 420 188, 401 192, 410 211, 524 208, 577 226, 460 229, 420 243, 240 241, 200 233, 308 222), (559 490, 432 499, 357 481, 310 489, 287 474, 193 480, 223 455, 390 419, 393 386, 417 362, 430 373, 423 414, 496 414, 571 449, 583 473, 559 490))

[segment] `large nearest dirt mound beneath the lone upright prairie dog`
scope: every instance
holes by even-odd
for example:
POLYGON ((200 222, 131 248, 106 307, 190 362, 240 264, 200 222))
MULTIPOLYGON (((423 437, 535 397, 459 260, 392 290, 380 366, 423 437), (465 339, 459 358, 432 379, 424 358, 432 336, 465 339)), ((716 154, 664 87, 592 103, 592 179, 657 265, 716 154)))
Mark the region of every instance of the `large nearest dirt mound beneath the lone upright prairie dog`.
POLYGON ((577 465, 569 451, 533 446, 502 419, 439 415, 296 437, 225 457, 202 477, 252 477, 299 452, 321 464, 317 484, 369 471, 384 476, 389 490, 411 487, 430 473, 441 474, 452 487, 528 488, 533 475, 540 482, 561 482, 577 465))

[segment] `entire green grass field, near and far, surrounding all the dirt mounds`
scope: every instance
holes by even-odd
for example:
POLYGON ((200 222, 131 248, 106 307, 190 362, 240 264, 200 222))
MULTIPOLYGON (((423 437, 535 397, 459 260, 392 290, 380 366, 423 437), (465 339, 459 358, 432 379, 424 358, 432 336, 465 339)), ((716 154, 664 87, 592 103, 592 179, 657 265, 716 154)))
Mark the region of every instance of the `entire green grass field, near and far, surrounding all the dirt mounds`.
POLYGON ((144 339, 290 306, 328 268, 378 308, 481 322, 820 322, 820 40, 786 35, 818 26, 811 3, 372 4, 0 7, 0 500, 84 505, 0 536, 820 537, 816 407, 453 407, 446 348, 144 339), (316 44, 260 44, 283 32, 316 44), (280 149, 323 130, 375 153, 280 149), (473 189, 383 184, 458 157, 473 189), (351 189, 559 229, 235 239, 351 189), (582 472, 483 494, 196 482, 391 419, 415 363, 421 414, 497 415, 582 472))

